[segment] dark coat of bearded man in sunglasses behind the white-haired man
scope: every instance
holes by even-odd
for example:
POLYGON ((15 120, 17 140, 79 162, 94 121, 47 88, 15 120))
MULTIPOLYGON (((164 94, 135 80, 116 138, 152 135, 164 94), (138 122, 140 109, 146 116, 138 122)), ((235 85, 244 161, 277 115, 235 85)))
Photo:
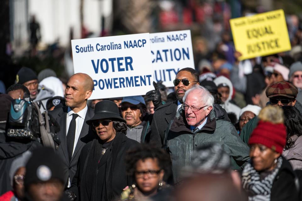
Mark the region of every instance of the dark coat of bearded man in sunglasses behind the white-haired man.
MULTIPOLYGON (((164 144, 165 130, 174 119, 177 110, 177 100, 173 102, 165 103, 155 109, 151 124, 150 143, 162 147, 164 144)), ((219 104, 214 104, 214 110, 216 113, 221 114, 221 118, 226 121, 231 121, 226 110, 223 109, 219 104), (222 116, 223 115, 223 116, 222 116)))

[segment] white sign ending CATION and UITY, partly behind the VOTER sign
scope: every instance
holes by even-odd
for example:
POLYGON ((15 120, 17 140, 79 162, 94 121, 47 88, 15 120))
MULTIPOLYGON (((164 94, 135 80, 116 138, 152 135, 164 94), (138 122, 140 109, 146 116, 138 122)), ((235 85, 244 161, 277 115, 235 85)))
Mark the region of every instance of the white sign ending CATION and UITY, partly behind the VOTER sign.
POLYGON ((186 67, 194 68, 190 30, 150 34, 154 81, 174 87, 176 73, 186 67))

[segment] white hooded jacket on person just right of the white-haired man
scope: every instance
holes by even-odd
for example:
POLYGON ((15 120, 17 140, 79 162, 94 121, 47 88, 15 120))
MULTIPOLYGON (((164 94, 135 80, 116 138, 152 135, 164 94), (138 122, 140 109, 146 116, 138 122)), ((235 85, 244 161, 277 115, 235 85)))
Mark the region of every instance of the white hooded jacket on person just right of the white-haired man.
POLYGON ((222 108, 224 108, 226 110, 227 113, 231 113, 231 112, 235 113, 237 119, 239 119, 240 108, 237 105, 230 102, 232 99, 232 94, 233 94, 232 82, 224 76, 217 77, 214 80, 214 82, 215 82, 216 86, 225 83, 229 87, 229 89, 230 89, 229 97, 226 99, 226 101, 224 103, 221 103, 220 105, 222 108))

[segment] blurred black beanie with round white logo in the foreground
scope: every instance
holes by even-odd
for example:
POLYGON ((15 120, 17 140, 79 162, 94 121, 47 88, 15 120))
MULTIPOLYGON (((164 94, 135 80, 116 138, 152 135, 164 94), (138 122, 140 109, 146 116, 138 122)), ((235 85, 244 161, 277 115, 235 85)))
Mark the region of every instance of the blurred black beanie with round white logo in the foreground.
POLYGON ((56 178, 65 184, 63 161, 50 147, 40 147, 33 150, 31 158, 26 164, 24 186, 31 183, 47 182, 56 178))

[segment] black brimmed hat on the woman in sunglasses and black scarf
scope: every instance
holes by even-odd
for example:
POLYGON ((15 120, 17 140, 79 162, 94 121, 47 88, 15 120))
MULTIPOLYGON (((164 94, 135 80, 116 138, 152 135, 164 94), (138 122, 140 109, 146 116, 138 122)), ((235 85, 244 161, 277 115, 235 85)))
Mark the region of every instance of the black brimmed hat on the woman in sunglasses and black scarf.
POLYGON ((90 125, 92 121, 98 119, 119 119, 123 122, 126 122, 125 119, 120 117, 120 112, 117 105, 109 100, 103 100, 95 104, 94 116, 87 120, 86 123, 90 125))

